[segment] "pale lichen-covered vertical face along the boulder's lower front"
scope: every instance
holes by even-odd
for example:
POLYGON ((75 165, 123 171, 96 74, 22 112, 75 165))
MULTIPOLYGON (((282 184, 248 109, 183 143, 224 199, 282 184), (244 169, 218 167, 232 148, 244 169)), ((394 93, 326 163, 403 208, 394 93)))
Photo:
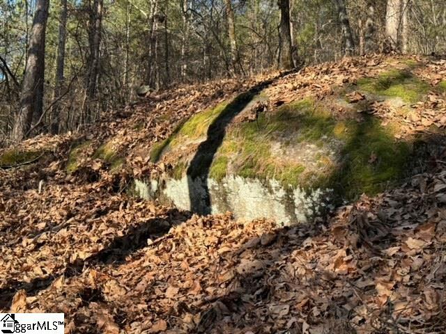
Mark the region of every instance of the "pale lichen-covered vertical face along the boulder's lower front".
POLYGON ((216 181, 184 176, 164 182, 135 182, 140 197, 157 198, 176 207, 201 214, 233 212, 251 221, 273 218, 282 225, 306 223, 330 209, 332 191, 284 188, 277 180, 256 180, 229 175, 216 181), (162 186, 160 186, 162 184, 162 186), (208 202, 210 200, 210 202, 208 202))

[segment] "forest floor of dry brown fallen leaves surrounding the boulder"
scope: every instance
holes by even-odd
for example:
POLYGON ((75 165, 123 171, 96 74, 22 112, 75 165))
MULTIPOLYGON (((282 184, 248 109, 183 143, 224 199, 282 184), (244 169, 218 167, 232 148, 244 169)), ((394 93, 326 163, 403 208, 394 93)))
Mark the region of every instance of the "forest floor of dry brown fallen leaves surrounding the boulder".
POLYGON ((396 138, 443 136, 446 61, 371 56, 181 87, 82 133, 1 150, 0 311, 63 312, 66 333, 445 333, 446 152, 394 189, 292 228, 128 194, 135 177, 168 168, 149 152, 195 113, 269 79, 272 106, 324 100, 390 63, 412 66, 426 97, 408 113, 380 102, 370 113, 399 124, 396 138))

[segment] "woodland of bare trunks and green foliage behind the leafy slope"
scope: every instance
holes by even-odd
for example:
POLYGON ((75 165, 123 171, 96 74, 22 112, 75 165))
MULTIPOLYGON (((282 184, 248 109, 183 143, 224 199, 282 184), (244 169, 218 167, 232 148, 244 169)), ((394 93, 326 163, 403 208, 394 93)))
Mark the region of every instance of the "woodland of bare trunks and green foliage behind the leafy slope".
POLYGON ((76 130, 178 84, 346 55, 441 54, 445 31, 440 0, 3 0, 0 138, 76 130))

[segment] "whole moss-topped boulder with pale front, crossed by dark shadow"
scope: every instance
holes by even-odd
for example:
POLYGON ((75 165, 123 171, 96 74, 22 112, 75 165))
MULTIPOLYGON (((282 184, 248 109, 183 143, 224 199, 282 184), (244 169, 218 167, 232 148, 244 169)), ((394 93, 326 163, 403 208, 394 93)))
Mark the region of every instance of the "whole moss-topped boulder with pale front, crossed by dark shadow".
POLYGON ((384 191, 413 173, 414 138, 401 133, 412 104, 431 89, 415 74, 419 65, 389 65, 323 100, 269 106, 255 118, 255 104, 268 100, 263 92, 198 113, 153 146, 152 161, 171 169, 142 193, 201 214, 295 223, 384 191), (369 114, 375 103, 394 116, 369 114))

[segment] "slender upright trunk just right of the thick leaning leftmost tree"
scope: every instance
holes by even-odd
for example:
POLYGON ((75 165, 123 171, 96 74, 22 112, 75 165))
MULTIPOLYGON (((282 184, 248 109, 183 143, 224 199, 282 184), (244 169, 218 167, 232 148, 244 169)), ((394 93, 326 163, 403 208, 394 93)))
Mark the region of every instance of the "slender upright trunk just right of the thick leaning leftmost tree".
MULTIPOLYGON (((59 42, 57 44, 57 60, 56 60, 56 76, 54 80, 54 98, 58 99, 62 93, 63 87, 63 67, 65 65, 65 43, 66 43, 66 26, 67 26, 67 0, 61 0, 61 14, 59 16, 59 42)), ((59 102, 56 102, 52 108, 52 123, 51 131, 53 134, 59 132, 60 122, 60 107, 59 102)))

